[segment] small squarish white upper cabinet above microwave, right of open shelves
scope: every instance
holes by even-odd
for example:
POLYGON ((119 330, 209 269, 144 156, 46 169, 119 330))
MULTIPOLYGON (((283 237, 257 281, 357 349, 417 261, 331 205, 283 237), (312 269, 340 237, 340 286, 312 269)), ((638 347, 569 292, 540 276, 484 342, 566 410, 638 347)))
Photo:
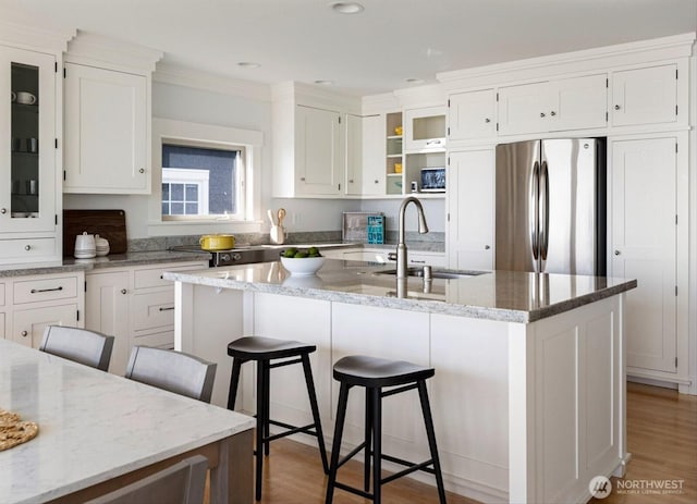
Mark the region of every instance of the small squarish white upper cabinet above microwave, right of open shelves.
POLYGON ((445 149, 445 108, 425 107, 404 111, 404 151, 445 149))

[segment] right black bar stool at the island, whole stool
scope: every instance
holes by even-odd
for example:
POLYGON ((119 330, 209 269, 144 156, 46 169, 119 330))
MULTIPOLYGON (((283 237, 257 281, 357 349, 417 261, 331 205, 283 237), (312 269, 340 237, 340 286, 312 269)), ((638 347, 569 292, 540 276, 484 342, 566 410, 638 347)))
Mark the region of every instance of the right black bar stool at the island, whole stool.
POLYGON ((344 357, 334 364, 334 379, 341 383, 339 391, 339 405, 337 407, 337 423, 334 428, 334 440, 331 448, 331 465, 329 466, 329 482, 327 484, 326 504, 331 504, 334 488, 345 490, 365 499, 371 499, 375 504, 380 503, 381 487, 402 476, 406 476, 416 470, 423 470, 436 476, 438 485, 438 497, 440 504, 445 504, 445 489, 443 477, 438 458, 438 447, 436 446, 436 434, 433 432, 433 419, 431 417, 426 380, 436 373, 433 368, 425 368, 415 364, 388 360, 376 357, 353 355, 344 357), (341 448, 341 437, 346 419, 346 403, 348 402, 348 390, 352 386, 364 386, 366 389, 366 425, 365 441, 356 446, 341 460, 339 451, 341 448), (402 385, 402 386, 399 386, 402 385), (398 386, 382 392, 383 386, 398 386), (418 390, 421 403, 424 423, 426 425, 426 435, 431 458, 420 464, 403 460, 382 453, 382 397, 406 392, 413 389, 418 390), (370 450, 372 444, 372 450, 370 450), (354 457, 360 450, 364 450, 364 490, 350 487, 337 481, 337 471, 348 459, 354 457), (386 478, 381 476, 381 460, 389 460, 406 466, 406 469, 390 475, 386 478), (372 460, 372 493, 370 490, 370 463, 372 460), (428 467, 432 465, 433 467, 428 467))

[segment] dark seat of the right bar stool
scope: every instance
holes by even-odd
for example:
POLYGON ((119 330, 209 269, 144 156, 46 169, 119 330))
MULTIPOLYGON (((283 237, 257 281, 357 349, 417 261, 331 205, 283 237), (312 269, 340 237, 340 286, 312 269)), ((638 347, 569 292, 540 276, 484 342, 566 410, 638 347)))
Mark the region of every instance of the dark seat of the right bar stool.
POLYGON ((402 385, 426 380, 435 373, 433 368, 365 355, 350 355, 334 364, 334 380, 367 388, 402 385))

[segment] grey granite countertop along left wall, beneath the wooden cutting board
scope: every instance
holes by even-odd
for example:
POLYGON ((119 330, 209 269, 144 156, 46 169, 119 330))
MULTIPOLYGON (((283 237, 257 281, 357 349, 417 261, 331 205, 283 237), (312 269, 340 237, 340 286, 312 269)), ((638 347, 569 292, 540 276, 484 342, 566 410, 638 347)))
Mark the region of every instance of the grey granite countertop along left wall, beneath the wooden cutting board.
POLYGON ((210 254, 185 253, 172 250, 135 251, 113 254, 94 259, 63 258, 62 261, 42 262, 36 265, 9 265, 0 267, 0 278, 26 276, 32 274, 58 274, 72 271, 91 271, 103 268, 124 268, 140 265, 157 265, 159 262, 207 261, 210 254))

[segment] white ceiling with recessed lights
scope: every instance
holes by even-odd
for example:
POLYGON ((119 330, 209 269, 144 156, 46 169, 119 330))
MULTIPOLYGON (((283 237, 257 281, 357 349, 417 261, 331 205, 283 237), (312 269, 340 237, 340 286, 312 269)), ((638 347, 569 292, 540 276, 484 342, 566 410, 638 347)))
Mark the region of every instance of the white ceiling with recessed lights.
POLYGON ((697 30, 697 0, 0 0, 37 21, 158 49, 163 62, 352 95, 438 72, 697 30), (255 62, 256 69, 239 62, 255 62))

